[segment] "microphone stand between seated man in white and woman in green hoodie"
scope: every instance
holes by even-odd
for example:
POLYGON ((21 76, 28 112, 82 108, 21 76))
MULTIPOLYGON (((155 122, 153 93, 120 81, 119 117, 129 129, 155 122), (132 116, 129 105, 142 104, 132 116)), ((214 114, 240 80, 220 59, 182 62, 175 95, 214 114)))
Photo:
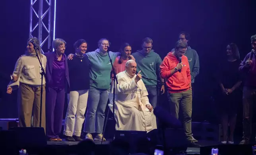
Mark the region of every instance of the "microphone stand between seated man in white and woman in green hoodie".
MULTIPOLYGON (((109 52, 108 52, 108 55, 109 55, 109 52)), ((113 79, 113 120, 114 120, 114 105, 115 105, 115 93, 116 93, 115 81, 116 81, 116 84, 118 84, 118 81, 117 81, 116 72, 114 70, 114 66, 113 66, 112 59, 111 59, 110 55, 109 55, 109 60, 110 60, 111 66, 112 66, 112 73, 114 74, 114 79, 113 79)), ((107 117, 108 117, 108 115, 107 115, 107 117)), ((103 129, 103 137, 101 139, 101 144, 103 143, 104 132, 105 132, 105 129, 106 129, 107 121, 108 121, 108 119, 106 119, 106 121, 105 121, 104 129, 103 129)), ((116 130, 116 124, 115 123, 114 123, 114 130, 116 130)), ((113 137, 113 140, 114 140, 114 137, 113 137)))

